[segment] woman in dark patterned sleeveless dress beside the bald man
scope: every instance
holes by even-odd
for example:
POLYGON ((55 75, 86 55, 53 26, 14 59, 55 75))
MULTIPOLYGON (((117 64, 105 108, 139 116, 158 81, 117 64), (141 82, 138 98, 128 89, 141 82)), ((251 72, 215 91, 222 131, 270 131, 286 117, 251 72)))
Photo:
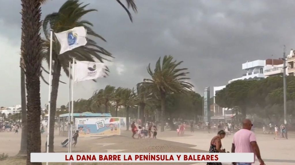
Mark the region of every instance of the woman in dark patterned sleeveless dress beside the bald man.
MULTIPOLYGON (((225 132, 223 130, 218 131, 217 136, 214 136, 210 142, 209 153, 225 152, 222 149, 221 139, 225 137, 225 132)), ((207 165, 222 165, 220 162, 208 162, 207 165)))

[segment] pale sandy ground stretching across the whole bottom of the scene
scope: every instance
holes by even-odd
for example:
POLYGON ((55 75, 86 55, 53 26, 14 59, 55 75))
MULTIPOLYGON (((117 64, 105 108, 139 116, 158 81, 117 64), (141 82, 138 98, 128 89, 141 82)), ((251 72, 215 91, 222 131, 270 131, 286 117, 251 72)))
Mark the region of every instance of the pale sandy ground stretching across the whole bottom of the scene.
MULTIPOLYGON (((194 133, 186 131, 184 136, 177 136, 175 131, 165 131, 158 133, 158 139, 132 139, 130 131, 122 131, 122 136, 111 137, 80 137, 78 144, 73 147, 73 152, 207 152, 211 138, 215 136, 215 132, 208 133, 203 130, 197 130, 194 133)), ((9 159, 0 161, 0 164, 12 165, 16 162, 25 163, 23 158, 16 157, 21 140, 21 132, 14 134, 13 132, 0 133, 0 153, 9 154, 9 159)), ((258 145, 262 158, 267 165, 291 165, 295 164, 292 145, 295 142, 295 134, 290 133, 289 139, 274 140, 273 134, 261 134, 256 132, 258 145)), ((60 146, 60 142, 67 137, 59 136, 58 131, 55 132, 55 152, 67 152, 68 148, 60 146)), ((231 149, 233 134, 222 140, 223 148, 227 151, 231 149)), ((46 134, 42 134, 42 152, 45 151, 46 134)), ((62 164, 62 163, 50 163, 62 164)), ((81 163, 76 163, 81 164, 81 163)), ((85 163, 83 163, 85 164, 85 163)), ((86 163, 87 164, 87 163, 86 163)), ((115 163, 97 163, 110 164, 115 163)), ((122 163, 120 163, 122 164, 122 163)), ((130 164, 130 163, 128 163, 130 164)), ((132 163, 134 165, 144 163, 132 163)), ((150 164, 150 163, 149 163, 150 164)), ((157 163, 159 164, 159 163, 157 163)), ((165 163, 163 163, 165 164, 165 163)), ((166 163, 167 164, 167 163, 166 163)), ((179 165, 189 165, 185 163, 173 163, 179 165)), ((205 164, 205 163, 198 163, 205 164)), ((255 165, 258 161, 255 162, 255 165)), ((92 163, 91 165, 96 165, 92 163)))

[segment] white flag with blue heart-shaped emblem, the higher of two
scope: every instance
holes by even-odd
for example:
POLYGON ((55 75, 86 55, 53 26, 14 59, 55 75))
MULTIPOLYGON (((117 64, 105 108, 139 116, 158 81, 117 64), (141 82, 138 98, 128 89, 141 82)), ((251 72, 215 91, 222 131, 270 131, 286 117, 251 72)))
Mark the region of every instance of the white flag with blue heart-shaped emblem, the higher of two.
POLYGON ((75 27, 67 31, 55 33, 58 42, 60 43, 60 53, 72 50, 79 46, 86 45, 87 31, 83 26, 75 27))

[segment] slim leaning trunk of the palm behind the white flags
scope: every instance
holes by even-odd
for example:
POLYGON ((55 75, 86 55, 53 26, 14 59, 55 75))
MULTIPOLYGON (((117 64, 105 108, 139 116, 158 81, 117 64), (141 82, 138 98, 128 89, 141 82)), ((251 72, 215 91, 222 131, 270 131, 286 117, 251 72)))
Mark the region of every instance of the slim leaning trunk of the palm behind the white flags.
POLYGON ((59 61, 54 63, 54 71, 52 75, 52 89, 51 89, 51 103, 50 103, 50 126, 49 126, 49 152, 54 151, 54 126, 55 126, 55 112, 56 112, 56 100, 58 94, 58 85, 60 79, 61 65, 59 61))

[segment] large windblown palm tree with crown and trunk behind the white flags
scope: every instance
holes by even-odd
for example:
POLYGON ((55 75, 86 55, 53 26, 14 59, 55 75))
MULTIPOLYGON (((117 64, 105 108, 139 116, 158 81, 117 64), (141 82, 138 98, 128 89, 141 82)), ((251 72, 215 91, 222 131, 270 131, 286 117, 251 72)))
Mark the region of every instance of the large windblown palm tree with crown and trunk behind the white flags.
MULTIPOLYGON (((44 53, 44 59, 47 61, 47 63, 50 63, 49 59, 49 53, 50 53, 50 33, 49 33, 49 27, 54 30, 55 33, 59 33, 62 31, 69 30, 71 28, 77 27, 77 26, 83 26, 87 29, 87 35, 100 38, 103 41, 106 41, 104 38, 102 38, 100 35, 95 33, 91 26, 92 23, 86 20, 82 20, 82 17, 91 12, 91 11, 97 11, 96 9, 89 9, 86 10, 86 5, 82 5, 83 3, 80 3, 78 0, 68 0, 66 1, 59 9, 57 13, 52 13, 44 18, 43 22, 43 31, 45 34, 45 39, 43 42, 43 53, 44 53)), ((55 111, 56 111, 56 100, 58 96, 58 87, 59 87, 59 81, 60 81, 60 73, 61 69, 63 68, 65 74, 67 76, 70 75, 68 72, 68 61, 71 60, 72 57, 75 57, 79 61, 95 61, 99 60, 100 62, 103 62, 103 60, 107 60, 106 58, 102 57, 101 55, 105 55, 107 57, 112 57, 111 53, 106 51, 104 48, 98 46, 96 42, 90 38, 87 38, 87 44, 86 46, 80 46, 78 48, 75 48, 71 51, 67 51, 63 54, 59 55, 60 45, 57 42, 56 39, 53 41, 53 78, 52 78, 52 90, 51 90, 51 107, 50 107, 50 140, 49 140, 49 151, 53 152, 54 146, 54 117, 55 117, 55 111)), ((106 68, 106 71, 108 69, 106 68)))

